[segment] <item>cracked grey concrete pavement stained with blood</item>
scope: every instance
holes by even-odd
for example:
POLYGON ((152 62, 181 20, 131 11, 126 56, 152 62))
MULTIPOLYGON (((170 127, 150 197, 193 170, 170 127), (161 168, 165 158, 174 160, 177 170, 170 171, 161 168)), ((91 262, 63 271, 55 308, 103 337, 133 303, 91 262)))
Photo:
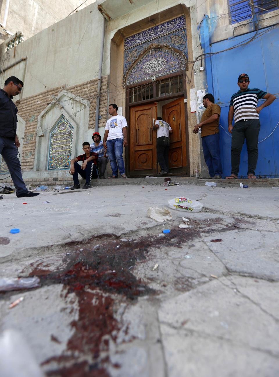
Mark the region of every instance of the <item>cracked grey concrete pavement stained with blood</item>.
POLYGON ((279 190, 165 189, 109 185, 0 202, 0 277, 41 279, 0 294, 0 331, 23 334, 46 376, 279 374, 279 190), (200 200, 202 212, 170 210, 163 224, 147 216, 177 196, 200 200), (191 228, 178 227, 182 216, 191 228))

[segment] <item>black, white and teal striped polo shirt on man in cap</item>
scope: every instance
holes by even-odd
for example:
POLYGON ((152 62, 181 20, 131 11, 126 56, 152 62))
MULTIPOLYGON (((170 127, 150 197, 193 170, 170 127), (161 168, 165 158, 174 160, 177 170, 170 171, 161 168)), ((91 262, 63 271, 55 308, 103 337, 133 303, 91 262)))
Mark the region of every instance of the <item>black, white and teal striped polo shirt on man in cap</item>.
POLYGON ((256 107, 258 100, 266 94, 267 92, 257 88, 248 88, 244 92, 238 90, 237 93, 234 93, 230 100, 230 106, 234 106, 234 123, 243 119, 259 119, 256 107))

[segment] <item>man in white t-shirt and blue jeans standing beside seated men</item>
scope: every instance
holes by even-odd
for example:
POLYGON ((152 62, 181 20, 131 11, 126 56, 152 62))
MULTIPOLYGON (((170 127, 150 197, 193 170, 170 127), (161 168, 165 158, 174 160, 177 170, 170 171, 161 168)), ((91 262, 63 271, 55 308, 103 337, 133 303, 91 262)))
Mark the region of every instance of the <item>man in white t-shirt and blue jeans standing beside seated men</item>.
POLYGON ((118 172, 121 178, 127 178, 123 160, 123 147, 128 145, 127 121, 124 116, 117 114, 118 107, 115 103, 109 105, 109 115, 112 117, 106 122, 103 146, 107 149, 112 176, 117 178, 118 172))

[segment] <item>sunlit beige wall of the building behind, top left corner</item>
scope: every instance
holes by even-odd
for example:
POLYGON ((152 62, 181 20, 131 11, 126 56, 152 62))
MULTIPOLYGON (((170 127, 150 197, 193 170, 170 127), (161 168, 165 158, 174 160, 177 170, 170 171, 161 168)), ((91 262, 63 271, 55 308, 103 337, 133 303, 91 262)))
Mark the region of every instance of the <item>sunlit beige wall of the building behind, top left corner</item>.
MULTIPOLYGON (((26 40, 67 17, 77 7, 80 11, 95 1, 87 0, 82 4, 83 0, 11 0, 6 30, 13 34, 20 30, 26 40)), ((3 23, 6 0, 0 1, 0 5, 0 22, 3 23)))

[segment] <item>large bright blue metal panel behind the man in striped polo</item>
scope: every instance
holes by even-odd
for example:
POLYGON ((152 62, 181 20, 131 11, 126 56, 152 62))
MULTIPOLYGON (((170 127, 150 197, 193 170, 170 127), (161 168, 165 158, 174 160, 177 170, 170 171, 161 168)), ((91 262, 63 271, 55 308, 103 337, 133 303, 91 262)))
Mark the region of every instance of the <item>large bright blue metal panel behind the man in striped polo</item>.
MULTIPOLYGON (((269 93, 276 94, 276 97, 278 97, 278 29, 278 26, 262 29, 250 43, 206 58, 208 83, 212 83, 212 94, 215 97, 215 102, 221 107, 220 124, 223 129, 220 129, 220 147, 224 175, 230 174, 231 136, 227 132, 227 114, 230 98, 239 89, 237 86, 238 76, 246 72, 250 78, 249 86, 251 88, 257 87, 269 93)), ((236 44, 247 42, 253 35, 255 35, 255 32, 214 43, 210 46, 210 51, 218 52, 233 47, 236 44)), ((206 37, 205 32, 205 45, 206 37)), ((263 101, 260 100, 259 104, 263 101)), ((276 98, 271 106, 265 107, 261 111, 260 121, 259 158, 256 175, 277 178, 279 177, 279 125, 273 134, 269 135, 279 122, 279 98, 276 98), (267 139, 265 139, 266 137, 267 139)), ((246 175, 247 149, 245 144, 241 152, 239 176, 246 175)))

